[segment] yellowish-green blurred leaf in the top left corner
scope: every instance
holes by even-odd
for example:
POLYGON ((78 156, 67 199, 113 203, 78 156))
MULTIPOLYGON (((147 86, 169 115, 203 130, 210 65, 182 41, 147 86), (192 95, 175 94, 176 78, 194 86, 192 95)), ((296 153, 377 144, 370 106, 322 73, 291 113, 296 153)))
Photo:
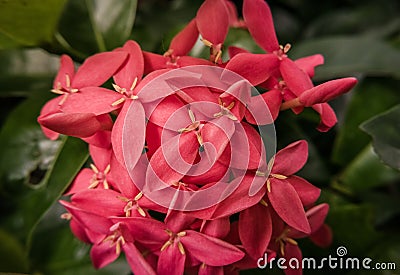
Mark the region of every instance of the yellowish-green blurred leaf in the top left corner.
POLYGON ((66 0, 0 2, 0 49, 52 40, 66 0))

